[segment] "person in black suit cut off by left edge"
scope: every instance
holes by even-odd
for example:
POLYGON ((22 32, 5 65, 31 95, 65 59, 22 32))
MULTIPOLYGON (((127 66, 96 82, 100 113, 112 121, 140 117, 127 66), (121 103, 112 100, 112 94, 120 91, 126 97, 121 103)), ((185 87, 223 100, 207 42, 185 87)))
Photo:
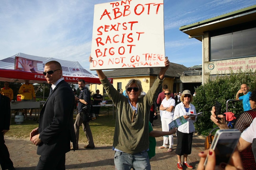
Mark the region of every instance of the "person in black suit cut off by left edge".
MULTIPOLYGON (((1 91, 1 89, 0 89, 1 91)), ((10 129, 10 120, 11 120, 11 103, 10 98, 0 94, 0 164, 1 168, 15 170, 13 163, 10 159, 9 151, 4 144, 4 134, 10 129)))

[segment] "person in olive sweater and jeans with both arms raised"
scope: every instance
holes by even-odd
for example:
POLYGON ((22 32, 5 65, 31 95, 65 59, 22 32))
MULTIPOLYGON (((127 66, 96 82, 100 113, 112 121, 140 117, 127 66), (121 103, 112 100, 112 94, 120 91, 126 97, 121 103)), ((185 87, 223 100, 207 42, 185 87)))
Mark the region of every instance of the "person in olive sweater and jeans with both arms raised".
MULTIPOLYGON (((93 61, 91 56, 89 61, 93 61)), ((161 88, 165 72, 170 65, 167 57, 164 63, 165 67, 160 69, 153 86, 142 97, 143 89, 140 80, 129 80, 125 89, 128 95, 126 98, 113 87, 102 70, 96 70, 99 80, 117 108, 113 140, 116 170, 151 169, 147 153, 149 148, 148 120, 150 108, 157 98, 157 92, 161 88)))

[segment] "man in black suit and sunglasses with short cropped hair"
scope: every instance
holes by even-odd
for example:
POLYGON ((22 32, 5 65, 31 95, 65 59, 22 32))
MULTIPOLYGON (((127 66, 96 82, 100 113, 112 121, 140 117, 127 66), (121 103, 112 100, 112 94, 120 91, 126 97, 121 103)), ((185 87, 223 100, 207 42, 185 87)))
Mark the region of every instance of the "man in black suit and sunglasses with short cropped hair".
POLYGON ((39 119, 39 127, 32 130, 30 140, 38 145, 41 155, 36 170, 65 169, 65 153, 70 151, 70 141, 76 144, 73 122, 74 93, 62 77, 61 64, 49 61, 45 64, 45 78, 52 84, 52 91, 45 102, 39 119))

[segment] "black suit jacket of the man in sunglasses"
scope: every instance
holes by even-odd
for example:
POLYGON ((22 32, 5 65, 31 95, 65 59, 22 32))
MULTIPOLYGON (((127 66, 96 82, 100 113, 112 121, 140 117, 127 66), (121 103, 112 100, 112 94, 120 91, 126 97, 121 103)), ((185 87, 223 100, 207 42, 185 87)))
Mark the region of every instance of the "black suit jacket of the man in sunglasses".
POLYGON ((60 155, 70 151, 70 141, 75 145, 74 103, 71 87, 62 80, 53 89, 40 112, 38 131, 42 143, 38 145, 38 155, 60 155))

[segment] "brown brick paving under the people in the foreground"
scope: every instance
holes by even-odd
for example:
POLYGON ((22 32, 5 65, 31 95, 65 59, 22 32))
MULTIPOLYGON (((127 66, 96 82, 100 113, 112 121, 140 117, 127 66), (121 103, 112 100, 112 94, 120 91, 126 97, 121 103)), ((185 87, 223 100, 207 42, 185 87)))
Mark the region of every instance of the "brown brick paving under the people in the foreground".
MULTIPOLYGON (((160 116, 159 116, 160 117, 160 116)), ((154 130, 162 130, 160 119, 154 120, 154 130)), ((8 133, 8 132, 7 132, 8 133)), ((163 144, 163 138, 157 137, 156 156, 151 158, 151 170, 176 170, 177 156, 175 154, 177 138, 174 135, 173 151, 168 153, 167 149, 157 149, 163 144)), ((11 160, 16 170, 34 170, 39 160, 37 146, 33 145, 29 138, 15 139, 5 136, 5 144, 10 152, 11 160)), ((114 151, 112 146, 95 146, 94 149, 83 148, 80 143, 79 150, 66 153, 66 169, 70 170, 114 170, 114 151)), ((188 162, 197 168, 200 157, 198 152, 204 150, 204 138, 194 135, 192 143, 192 153, 188 156, 188 162)), ((183 157, 181 157, 182 159, 183 157)), ((184 170, 188 170, 183 166, 184 170)))

